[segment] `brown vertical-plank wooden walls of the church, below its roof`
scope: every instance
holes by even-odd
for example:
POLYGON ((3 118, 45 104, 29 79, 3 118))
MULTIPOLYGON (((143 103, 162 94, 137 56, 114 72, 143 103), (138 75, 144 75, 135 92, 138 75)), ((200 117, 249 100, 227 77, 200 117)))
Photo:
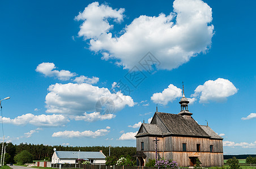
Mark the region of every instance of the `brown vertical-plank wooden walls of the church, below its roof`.
MULTIPOLYGON (((155 159, 155 137, 145 136, 136 139, 137 151, 140 151, 140 144, 144 142, 144 154, 147 155, 146 162, 149 159, 155 159)), ((199 160, 203 167, 223 166, 223 142, 208 138, 168 136, 157 137, 157 154, 159 158, 173 159, 180 167, 190 166, 189 155, 197 152, 197 144, 200 144, 199 160), (186 143, 186 152, 182 152, 182 143, 186 143), (164 145, 164 147, 163 147, 164 145), (214 146, 214 152, 210 153, 210 145, 214 146), (164 151, 163 151, 164 150, 164 151)))

